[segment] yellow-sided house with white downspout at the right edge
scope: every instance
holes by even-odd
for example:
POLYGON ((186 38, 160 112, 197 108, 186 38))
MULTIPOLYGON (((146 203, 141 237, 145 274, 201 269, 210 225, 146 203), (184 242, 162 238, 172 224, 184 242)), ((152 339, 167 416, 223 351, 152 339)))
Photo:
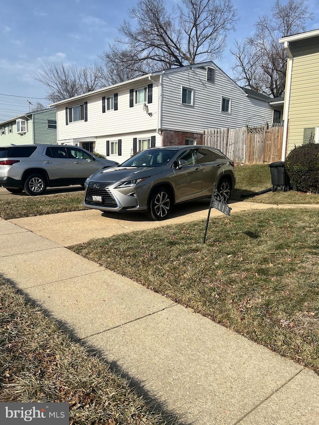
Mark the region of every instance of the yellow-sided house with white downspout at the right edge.
POLYGON ((319 143, 319 29, 283 37, 288 55, 282 160, 296 146, 319 143))

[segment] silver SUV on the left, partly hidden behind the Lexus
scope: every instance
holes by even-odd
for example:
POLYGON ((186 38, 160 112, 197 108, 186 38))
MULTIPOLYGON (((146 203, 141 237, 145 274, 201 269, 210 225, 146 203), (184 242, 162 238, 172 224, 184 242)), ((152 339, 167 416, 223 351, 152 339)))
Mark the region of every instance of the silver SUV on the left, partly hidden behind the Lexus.
POLYGON ((0 186, 41 195, 47 187, 84 185, 92 173, 118 165, 77 146, 24 144, 0 147, 0 186))

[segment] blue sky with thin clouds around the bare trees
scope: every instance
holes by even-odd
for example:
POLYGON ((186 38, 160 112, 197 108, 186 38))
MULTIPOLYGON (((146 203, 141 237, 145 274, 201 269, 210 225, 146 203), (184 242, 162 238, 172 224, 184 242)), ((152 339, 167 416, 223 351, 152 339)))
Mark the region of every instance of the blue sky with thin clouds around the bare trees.
MULTIPOLYGON (((177 2, 177 0, 176 0, 177 2)), ((118 35, 118 27, 128 17, 137 0, 2 0, 0 24, 0 122, 29 110, 28 101, 40 102, 45 86, 35 74, 48 61, 90 65, 118 35)), ((270 12, 275 0, 233 0, 239 21, 228 37, 222 60, 216 65, 230 77, 234 63, 230 48, 234 39, 254 31, 258 16, 270 12)), ((174 0, 167 0, 169 8, 174 0)), ((319 28, 319 0, 309 0, 315 20, 307 30, 319 28)))

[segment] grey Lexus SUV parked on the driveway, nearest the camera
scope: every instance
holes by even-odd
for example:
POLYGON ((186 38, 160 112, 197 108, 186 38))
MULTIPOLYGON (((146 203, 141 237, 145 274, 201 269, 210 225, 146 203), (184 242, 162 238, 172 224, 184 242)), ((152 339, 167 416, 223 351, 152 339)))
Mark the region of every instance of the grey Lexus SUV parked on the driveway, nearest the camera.
POLYGON ((91 175, 84 206, 103 211, 144 211, 164 220, 173 204, 210 197, 214 183, 227 201, 235 185, 234 163, 209 146, 143 150, 118 167, 91 175))

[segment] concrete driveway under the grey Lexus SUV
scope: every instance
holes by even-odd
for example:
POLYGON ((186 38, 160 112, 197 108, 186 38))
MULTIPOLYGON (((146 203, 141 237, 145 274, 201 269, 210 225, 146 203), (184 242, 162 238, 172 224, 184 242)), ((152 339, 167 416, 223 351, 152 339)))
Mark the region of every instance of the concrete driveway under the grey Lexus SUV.
MULTIPOLYGON (((254 204, 252 202, 232 202, 231 214, 252 209, 277 208, 276 205, 254 204)), ((23 229, 54 241, 64 247, 87 242, 90 239, 105 238, 113 235, 129 233, 145 229, 187 223, 203 220, 203 235, 205 221, 208 215, 208 200, 200 200, 175 206, 167 220, 152 221, 142 213, 101 213, 99 210, 74 211, 36 217, 17 218, 9 220, 23 229)), ((211 217, 225 217, 219 211, 212 209, 211 217)), ((209 232, 207 234, 209 237, 209 232)))

